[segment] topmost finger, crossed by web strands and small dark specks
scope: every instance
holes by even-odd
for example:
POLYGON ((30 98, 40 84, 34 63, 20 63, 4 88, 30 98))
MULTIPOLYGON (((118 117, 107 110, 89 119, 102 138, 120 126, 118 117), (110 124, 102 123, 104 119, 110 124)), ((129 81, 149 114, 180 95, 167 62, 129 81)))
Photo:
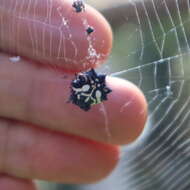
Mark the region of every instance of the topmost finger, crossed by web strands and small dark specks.
POLYGON ((112 32, 106 20, 70 0, 0 0, 0 49, 64 71, 83 71, 110 53, 112 32), (93 29, 90 33, 88 29, 93 29), (89 33, 90 34, 89 34, 89 33))

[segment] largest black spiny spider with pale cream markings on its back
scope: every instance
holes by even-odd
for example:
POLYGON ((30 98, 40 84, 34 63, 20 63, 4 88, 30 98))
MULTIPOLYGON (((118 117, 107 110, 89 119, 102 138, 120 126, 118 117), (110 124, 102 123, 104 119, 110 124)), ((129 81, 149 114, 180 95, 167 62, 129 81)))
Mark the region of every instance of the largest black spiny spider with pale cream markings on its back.
POLYGON ((88 111, 92 105, 107 100, 112 90, 106 86, 105 78, 106 75, 98 75, 94 69, 77 74, 71 83, 69 101, 88 111))

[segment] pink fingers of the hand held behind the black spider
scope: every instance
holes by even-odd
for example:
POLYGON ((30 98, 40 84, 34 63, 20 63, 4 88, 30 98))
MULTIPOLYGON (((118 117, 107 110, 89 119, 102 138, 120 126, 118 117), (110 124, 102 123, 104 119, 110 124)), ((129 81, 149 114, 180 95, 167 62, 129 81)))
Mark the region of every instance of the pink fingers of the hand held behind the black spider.
MULTIPOLYGON (((23 7, 27 7, 28 1, 23 2, 23 7)), ((46 15, 44 2, 38 1, 35 22, 30 23, 30 19, 17 20, 20 9, 14 13, 9 11, 14 7, 11 0, 0 0, 0 21, 4 23, 0 28, 2 190, 12 187, 14 190, 36 190, 33 179, 62 183, 96 182, 116 166, 119 145, 136 140, 146 122, 147 104, 142 92, 130 82, 117 78, 107 77, 106 83, 113 92, 103 105, 95 105, 84 112, 67 103, 75 72, 103 63, 111 51, 112 33, 105 19, 94 9, 86 7, 86 11, 80 13, 95 28, 93 47, 101 55, 98 59, 89 59, 81 17, 76 16, 71 1, 57 0, 53 6, 61 5, 62 14, 71 22, 72 41, 67 41, 64 50, 69 61, 56 58, 60 33, 52 32, 50 26, 46 32, 53 33, 51 54, 44 54, 50 50, 48 45, 40 43, 40 35, 36 36, 39 41, 35 49, 37 53, 32 53, 34 46, 28 40, 26 26, 34 24, 38 31, 43 30, 36 21, 42 21, 46 15), (13 23, 19 23, 14 35, 10 32, 13 23), (76 56, 73 56, 73 42, 80 51, 76 56), (13 63, 9 58, 15 54, 22 58, 13 63)), ((23 18, 34 18, 32 9, 27 12, 26 7, 22 9, 23 18)), ((51 19, 51 24, 60 25, 58 15, 53 14, 51 19)), ((68 30, 63 27, 61 33, 68 35, 68 30)), ((45 39, 49 40, 47 36, 45 39)))

